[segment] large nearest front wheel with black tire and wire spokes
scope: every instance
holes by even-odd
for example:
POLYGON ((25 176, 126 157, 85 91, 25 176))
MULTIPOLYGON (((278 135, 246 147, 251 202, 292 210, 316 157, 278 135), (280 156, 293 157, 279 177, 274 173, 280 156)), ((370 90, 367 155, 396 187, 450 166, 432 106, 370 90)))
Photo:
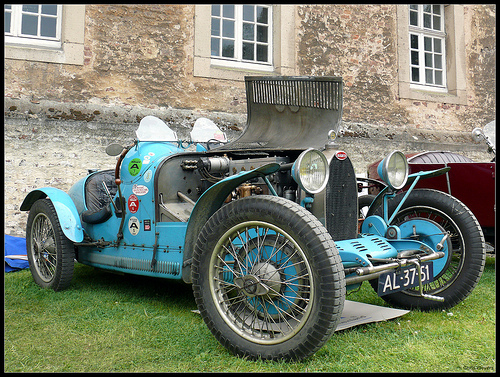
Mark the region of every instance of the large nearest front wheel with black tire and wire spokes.
POLYGON ((280 197, 220 208, 198 237, 192 279, 210 331, 250 359, 312 355, 344 306, 344 271, 331 236, 310 212, 280 197))

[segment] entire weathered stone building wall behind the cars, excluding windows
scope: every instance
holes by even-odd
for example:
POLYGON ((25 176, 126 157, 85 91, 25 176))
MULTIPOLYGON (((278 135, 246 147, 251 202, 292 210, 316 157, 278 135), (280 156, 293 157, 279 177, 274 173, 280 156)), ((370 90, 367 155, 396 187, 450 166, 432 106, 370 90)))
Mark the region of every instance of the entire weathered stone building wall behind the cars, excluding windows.
MULTIPOLYGON (((198 117, 235 138, 246 122, 244 83, 193 75, 194 6, 85 5, 84 64, 4 60, 5 232, 24 234, 22 199, 67 191, 106 168, 110 142, 156 115, 181 136, 198 117)), ((342 76, 339 140, 357 173, 399 148, 491 156, 470 131, 495 118, 495 5, 464 5, 467 105, 398 96, 395 5, 297 5, 296 75, 342 76)))

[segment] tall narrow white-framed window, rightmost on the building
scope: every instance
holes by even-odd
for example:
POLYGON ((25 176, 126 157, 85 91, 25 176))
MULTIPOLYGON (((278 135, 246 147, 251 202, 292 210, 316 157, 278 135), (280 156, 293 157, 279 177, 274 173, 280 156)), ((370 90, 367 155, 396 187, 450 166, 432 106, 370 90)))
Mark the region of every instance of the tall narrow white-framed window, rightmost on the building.
POLYGON ((446 90, 444 6, 414 4, 408 8, 410 83, 446 90))

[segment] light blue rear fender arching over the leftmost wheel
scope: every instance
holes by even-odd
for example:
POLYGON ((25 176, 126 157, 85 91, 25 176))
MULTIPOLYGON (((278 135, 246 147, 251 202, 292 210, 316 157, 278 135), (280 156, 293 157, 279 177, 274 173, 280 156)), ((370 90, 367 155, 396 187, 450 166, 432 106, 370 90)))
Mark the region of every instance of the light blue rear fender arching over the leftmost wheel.
POLYGON ((33 203, 46 197, 54 205, 64 235, 73 242, 82 242, 83 228, 80 216, 75 203, 66 192, 53 187, 33 190, 24 198, 20 208, 21 211, 29 211, 33 203))

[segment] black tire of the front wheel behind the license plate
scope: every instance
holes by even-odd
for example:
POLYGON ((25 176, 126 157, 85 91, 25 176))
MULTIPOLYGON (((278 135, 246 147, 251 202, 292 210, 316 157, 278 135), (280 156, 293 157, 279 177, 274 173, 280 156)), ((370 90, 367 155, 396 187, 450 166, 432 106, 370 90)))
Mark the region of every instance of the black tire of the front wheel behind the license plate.
MULTIPOLYGON (((389 201, 392 213, 405 193, 389 201)), ((375 214, 381 215, 377 208, 375 214)), ((391 305, 424 311, 451 308, 463 301, 479 282, 486 261, 485 241, 479 222, 472 212, 458 199, 441 191, 419 189, 408 199, 394 218, 392 225, 423 218, 434 221, 450 234, 452 253, 445 268, 435 280, 424 285, 424 293, 444 297, 444 302, 431 301, 418 296, 417 288, 392 293, 382 298, 391 305)), ((378 279, 370 283, 377 287, 378 279)))

